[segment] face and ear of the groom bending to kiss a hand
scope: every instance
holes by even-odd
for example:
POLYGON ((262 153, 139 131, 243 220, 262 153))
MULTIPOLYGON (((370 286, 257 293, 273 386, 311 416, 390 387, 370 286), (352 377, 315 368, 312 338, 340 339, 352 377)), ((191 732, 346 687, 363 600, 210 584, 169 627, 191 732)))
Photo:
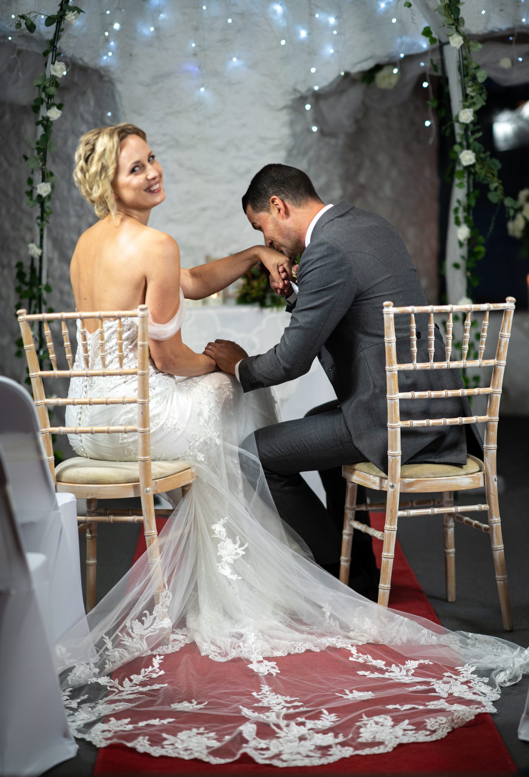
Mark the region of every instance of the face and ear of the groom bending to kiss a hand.
POLYGON ((300 236, 295 211, 284 200, 272 197, 269 211, 256 212, 249 205, 246 216, 254 229, 263 232, 266 246, 275 248, 293 261, 304 252, 305 235, 300 236))

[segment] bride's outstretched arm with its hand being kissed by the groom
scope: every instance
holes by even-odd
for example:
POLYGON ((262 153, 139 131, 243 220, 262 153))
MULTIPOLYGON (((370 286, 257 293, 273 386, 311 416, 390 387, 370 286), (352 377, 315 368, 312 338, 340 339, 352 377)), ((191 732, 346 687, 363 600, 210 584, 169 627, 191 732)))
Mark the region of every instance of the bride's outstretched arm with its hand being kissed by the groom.
POLYGON ((215 262, 200 264, 190 270, 180 270, 180 285, 186 299, 204 299, 226 288, 263 262, 270 272, 270 280, 282 288, 290 274, 290 261, 284 254, 267 246, 253 246, 215 262))

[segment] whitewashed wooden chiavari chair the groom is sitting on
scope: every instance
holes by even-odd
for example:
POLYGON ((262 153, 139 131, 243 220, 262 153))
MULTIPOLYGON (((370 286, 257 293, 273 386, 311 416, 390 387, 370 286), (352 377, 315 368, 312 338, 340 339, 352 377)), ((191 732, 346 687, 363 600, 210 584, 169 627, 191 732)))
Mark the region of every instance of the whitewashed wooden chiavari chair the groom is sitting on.
POLYGON ((388 474, 381 472, 371 462, 343 467, 343 476, 347 481, 346 506, 343 519, 342 556, 340 559, 340 580, 349 580, 351 544, 353 530, 364 531, 371 537, 380 539, 382 549, 381 579, 378 587, 378 604, 388 606, 389 591, 392 579, 393 558, 395 556, 395 539, 397 521, 401 517, 443 515, 444 516, 444 553, 447 601, 455 601, 455 546, 454 521, 478 529, 490 535, 492 556, 496 571, 496 581, 499 591, 499 603, 503 616, 503 628, 510 631, 513 622, 510 611, 509 589, 503 553, 503 540, 498 505, 498 477, 496 473, 496 449, 498 430, 499 398, 502 392, 503 372, 505 370, 507 346, 510 329, 513 322, 513 297, 507 297, 506 302, 487 305, 424 305, 420 307, 394 308, 392 302, 384 303, 385 329, 385 361, 388 402, 388 474), (503 320, 499 331, 496 357, 484 359, 489 312, 503 310, 503 320), (483 312, 481 334, 479 337, 479 355, 477 359, 467 360, 468 345, 471 333, 471 315, 473 312, 483 312), (429 361, 417 362, 417 334, 415 316, 419 313, 429 314, 428 320, 428 354, 429 361), (433 361, 434 354, 434 313, 447 314, 447 337, 445 345, 446 361, 433 361), (454 313, 465 315, 462 340, 462 359, 451 361, 452 330, 454 313), (398 364, 395 315, 410 316, 410 350, 412 361, 409 364, 398 364), (399 392, 398 372, 412 370, 447 370, 458 368, 492 367, 492 380, 489 386, 476 389, 446 389, 443 391, 399 392), (489 401, 485 416, 468 416, 458 418, 435 418, 426 420, 400 420, 399 402, 401 399, 447 399, 456 396, 475 396, 488 394, 489 401), (404 464, 401 465, 401 429, 432 426, 461 426, 468 423, 485 423, 484 462, 474 456, 468 456, 466 465, 446 464, 404 464), (367 486, 388 493, 386 503, 358 504, 357 486, 367 486), (485 486, 486 503, 454 507, 454 491, 468 490, 485 486), (442 499, 423 500, 419 502, 400 503, 401 493, 442 493, 442 499), (430 507, 431 505, 431 507, 430 507), (411 508, 411 509, 410 509, 411 508), (414 509, 415 508, 415 509, 414 509), (377 531, 355 520, 357 510, 385 510, 384 531, 377 531), (486 524, 464 515, 463 513, 487 512, 486 524))

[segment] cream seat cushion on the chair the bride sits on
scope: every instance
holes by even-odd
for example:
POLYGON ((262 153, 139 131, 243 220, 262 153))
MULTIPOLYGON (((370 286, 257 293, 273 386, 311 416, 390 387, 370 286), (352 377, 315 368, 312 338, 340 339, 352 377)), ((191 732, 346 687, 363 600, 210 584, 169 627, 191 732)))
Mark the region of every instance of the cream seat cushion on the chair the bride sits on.
MULTIPOLYGON (((152 479, 166 478, 190 469, 189 462, 151 462, 152 479)), ((57 483, 139 483, 140 469, 137 462, 103 462, 99 458, 75 456, 61 462, 55 470, 57 483)))

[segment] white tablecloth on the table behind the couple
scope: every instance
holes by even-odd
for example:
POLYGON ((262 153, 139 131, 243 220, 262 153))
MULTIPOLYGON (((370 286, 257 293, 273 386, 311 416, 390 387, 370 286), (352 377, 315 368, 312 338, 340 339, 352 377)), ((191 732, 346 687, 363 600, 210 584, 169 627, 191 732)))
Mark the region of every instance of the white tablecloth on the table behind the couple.
MULTIPOLYGON (((291 315, 283 309, 257 305, 188 305, 182 327, 184 343, 199 353, 209 340, 235 340, 249 356, 264 354, 279 343, 291 315)), ((332 385, 316 359, 307 375, 275 386, 284 421, 302 418, 308 410, 336 399, 332 385)))

